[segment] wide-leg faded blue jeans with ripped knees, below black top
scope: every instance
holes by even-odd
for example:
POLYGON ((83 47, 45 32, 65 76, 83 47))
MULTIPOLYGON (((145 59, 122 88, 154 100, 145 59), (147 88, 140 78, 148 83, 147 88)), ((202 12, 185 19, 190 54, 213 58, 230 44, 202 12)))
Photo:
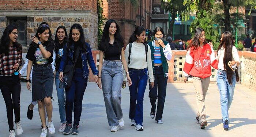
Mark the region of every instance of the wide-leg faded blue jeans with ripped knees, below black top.
POLYGON ((118 120, 123 118, 121 109, 122 83, 122 62, 105 60, 102 65, 101 84, 109 126, 118 126, 118 120))

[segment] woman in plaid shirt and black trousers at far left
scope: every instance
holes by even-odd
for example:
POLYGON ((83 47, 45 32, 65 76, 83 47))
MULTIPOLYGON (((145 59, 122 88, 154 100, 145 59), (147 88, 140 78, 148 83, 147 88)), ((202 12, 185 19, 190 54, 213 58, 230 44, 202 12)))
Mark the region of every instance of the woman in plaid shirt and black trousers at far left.
POLYGON ((22 65, 22 47, 17 42, 17 27, 8 25, 0 41, 0 88, 4 98, 9 125, 9 137, 15 137, 13 110, 15 115, 16 134, 22 134, 20 123, 20 81, 18 70, 22 65))

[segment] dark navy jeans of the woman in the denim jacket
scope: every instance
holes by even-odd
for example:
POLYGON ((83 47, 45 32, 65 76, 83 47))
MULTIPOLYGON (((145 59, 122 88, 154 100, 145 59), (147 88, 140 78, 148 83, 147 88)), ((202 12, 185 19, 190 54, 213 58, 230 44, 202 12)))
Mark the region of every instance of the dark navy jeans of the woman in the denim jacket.
POLYGON ((72 110, 73 104, 75 105, 74 109, 74 126, 79 125, 80 117, 82 114, 82 101, 84 91, 86 89, 88 82, 88 77, 84 79, 82 68, 76 68, 75 73, 71 82, 71 86, 66 88, 66 119, 67 123, 72 123, 72 110))

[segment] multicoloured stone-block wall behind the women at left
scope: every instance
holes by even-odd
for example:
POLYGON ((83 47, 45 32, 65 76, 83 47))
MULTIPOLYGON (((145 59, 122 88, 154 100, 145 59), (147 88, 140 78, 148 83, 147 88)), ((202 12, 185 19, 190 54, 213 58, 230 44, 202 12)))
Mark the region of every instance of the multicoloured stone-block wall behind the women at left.
MULTIPOLYGON (((8 23, 8 17, 26 16, 27 27, 27 45, 31 43, 31 35, 35 35, 40 23, 47 22, 55 37, 55 31, 58 26, 65 26, 67 33, 74 23, 83 27, 86 42, 92 49, 97 49, 97 14, 90 11, 6 11, 0 16, 0 36, 8 23)), ((19 30, 18 30, 19 31, 19 30)), ((23 47, 26 49, 26 47, 23 47)), ((26 51, 26 50, 25 50, 26 51)))

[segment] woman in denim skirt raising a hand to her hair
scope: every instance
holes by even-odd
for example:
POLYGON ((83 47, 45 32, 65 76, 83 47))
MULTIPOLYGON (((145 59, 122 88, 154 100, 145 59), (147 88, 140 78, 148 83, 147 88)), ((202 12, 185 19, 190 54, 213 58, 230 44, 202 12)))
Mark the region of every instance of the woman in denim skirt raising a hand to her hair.
POLYGON ((32 73, 32 101, 37 101, 38 112, 42 123, 42 133, 40 137, 47 136, 45 108, 48 115, 48 131, 55 133, 52 122, 52 90, 53 90, 53 62, 54 41, 49 39, 49 26, 39 25, 37 33, 32 37, 26 58, 29 60, 27 65, 27 88, 30 88, 30 72, 32 73))

